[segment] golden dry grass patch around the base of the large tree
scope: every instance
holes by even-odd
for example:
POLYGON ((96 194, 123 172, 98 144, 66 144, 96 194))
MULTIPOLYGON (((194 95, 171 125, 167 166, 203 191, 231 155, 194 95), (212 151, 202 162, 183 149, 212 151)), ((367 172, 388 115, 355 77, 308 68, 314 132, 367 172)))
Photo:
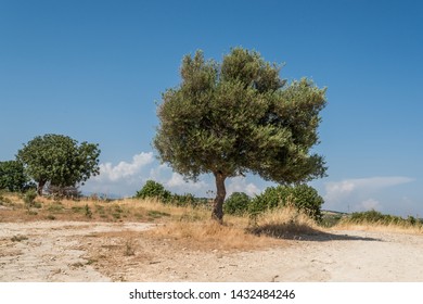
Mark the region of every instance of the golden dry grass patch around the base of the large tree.
POLYGON ((181 246, 202 250, 254 250, 281 244, 280 239, 319 233, 320 228, 294 207, 269 211, 256 220, 227 216, 225 225, 214 220, 180 220, 145 232, 153 238, 171 239, 181 246))

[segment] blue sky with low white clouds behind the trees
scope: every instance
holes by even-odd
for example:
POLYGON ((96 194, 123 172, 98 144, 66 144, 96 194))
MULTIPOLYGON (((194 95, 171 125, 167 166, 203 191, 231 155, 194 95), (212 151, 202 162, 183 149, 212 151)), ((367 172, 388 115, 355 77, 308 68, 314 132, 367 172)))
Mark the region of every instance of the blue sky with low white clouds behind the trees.
MULTIPOLYGON (((325 208, 423 216, 421 1, 0 0, 0 161, 35 136, 100 144, 101 175, 82 188, 132 195, 148 179, 209 195, 155 159, 156 101, 180 83, 183 55, 231 47, 284 63, 283 78, 328 87, 311 182, 325 208)), ((229 192, 259 193, 247 176, 229 192)))

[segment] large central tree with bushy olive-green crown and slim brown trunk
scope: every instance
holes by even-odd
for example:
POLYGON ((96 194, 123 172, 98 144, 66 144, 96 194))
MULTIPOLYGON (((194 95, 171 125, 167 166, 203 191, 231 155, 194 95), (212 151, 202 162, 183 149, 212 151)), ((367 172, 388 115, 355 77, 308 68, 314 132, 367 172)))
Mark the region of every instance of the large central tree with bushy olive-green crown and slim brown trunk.
POLYGON ((256 51, 234 48, 221 63, 196 51, 182 60, 181 84, 163 93, 154 147, 185 178, 215 176, 219 221, 228 177, 293 183, 325 175, 323 156, 310 152, 325 89, 307 78, 289 84, 280 71, 256 51))

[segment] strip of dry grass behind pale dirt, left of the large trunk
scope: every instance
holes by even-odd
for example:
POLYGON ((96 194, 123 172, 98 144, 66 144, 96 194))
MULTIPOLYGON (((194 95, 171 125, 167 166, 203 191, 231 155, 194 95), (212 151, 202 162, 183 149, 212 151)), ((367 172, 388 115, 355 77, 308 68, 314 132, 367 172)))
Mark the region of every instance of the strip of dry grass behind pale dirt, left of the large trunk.
POLYGON ((25 205, 16 194, 3 194, 8 204, 2 204, 0 221, 33 220, 79 220, 79 221, 154 221, 179 220, 180 218, 203 219, 202 208, 164 205, 156 200, 126 199, 102 200, 53 200, 37 198, 34 206, 25 205))

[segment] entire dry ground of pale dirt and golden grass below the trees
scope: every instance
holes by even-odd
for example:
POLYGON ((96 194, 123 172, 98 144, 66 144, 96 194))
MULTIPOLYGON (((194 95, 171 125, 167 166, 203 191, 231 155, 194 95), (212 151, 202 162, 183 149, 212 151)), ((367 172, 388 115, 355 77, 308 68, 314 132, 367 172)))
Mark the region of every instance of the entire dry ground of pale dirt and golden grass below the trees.
POLYGON ((0 204, 0 281, 423 281, 423 235, 285 210, 208 220, 154 201, 0 204))

